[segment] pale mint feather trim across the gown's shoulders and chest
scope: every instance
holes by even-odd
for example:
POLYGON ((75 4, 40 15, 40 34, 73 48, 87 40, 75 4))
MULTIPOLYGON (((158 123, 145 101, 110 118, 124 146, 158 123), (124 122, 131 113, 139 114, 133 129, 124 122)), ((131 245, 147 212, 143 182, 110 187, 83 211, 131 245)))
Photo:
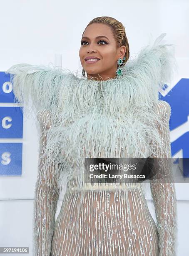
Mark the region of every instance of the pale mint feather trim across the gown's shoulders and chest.
POLYGON ((45 172, 52 162, 62 163, 64 168, 54 174, 59 186, 63 179, 67 184, 77 179, 77 186, 82 186, 85 157, 147 158, 151 140, 161 145, 156 123, 163 122, 153 106, 176 67, 173 45, 162 43, 165 35, 129 59, 121 77, 105 81, 29 64, 7 70, 15 102, 24 103, 39 119, 43 110, 50 113, 44 151, 48 161, 42 168, 45 172))

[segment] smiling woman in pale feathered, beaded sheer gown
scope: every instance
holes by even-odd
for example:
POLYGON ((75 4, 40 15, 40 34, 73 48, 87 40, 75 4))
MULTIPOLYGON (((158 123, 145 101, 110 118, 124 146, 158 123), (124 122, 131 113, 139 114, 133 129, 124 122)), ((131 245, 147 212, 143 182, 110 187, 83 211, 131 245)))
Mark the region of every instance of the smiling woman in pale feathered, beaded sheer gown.
POLYGON ((158 99, 159 86, 171 79, 174 67, 172 45, 162 44, 164 36, 128 60, 122 23, 97 17, 82 35, 84 77, 29 64, 7 70, 15 98, 26 107, 32 99, 41 128, 35 255, 176 255, 172 166, 157 159, 171 158, 171 109, 158 99), (148 157, 158 160, 150 179, 157 225, 142 183, 84 182, 85 158, 148 157), (67 190, 55 222, 63 183, 67 190))

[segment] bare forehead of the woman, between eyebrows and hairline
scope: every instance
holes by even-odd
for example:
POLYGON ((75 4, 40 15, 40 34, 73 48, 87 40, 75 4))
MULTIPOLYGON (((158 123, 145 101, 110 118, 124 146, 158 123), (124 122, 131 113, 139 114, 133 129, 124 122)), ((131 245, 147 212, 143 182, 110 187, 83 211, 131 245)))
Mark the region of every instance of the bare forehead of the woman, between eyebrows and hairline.
POLYGON ((107 38, 111 39, 113 34, 109 26, 102 23, 93 23, 85 29, 83 36, 87 36, 91 39, 95 38, 96 36, 107 36, 107 38))

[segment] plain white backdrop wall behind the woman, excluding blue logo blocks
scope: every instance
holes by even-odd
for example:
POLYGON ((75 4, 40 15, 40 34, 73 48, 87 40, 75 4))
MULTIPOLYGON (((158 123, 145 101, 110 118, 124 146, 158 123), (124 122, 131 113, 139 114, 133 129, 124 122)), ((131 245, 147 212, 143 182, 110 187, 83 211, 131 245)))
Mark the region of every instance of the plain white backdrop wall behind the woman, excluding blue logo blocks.
MULTIPOLYGON (((55 53, 59 53, 63 68, 81 72, 80 39, 87 23, 98 16, 111 16, 125 26, 130 56, 149 43, 150 34, 156 38, 160 33, 167 33, 167 42, 176 45, 175 56, 179 64, 179 74, 170 86, 181 78, 189 78, 188 0, 104 0, 98 3, 92 0, 6 0, 0 1, 0 9, 0 71, 20 62, 46 65, 54 62, 55 53)), ((0 103, 0 106, 10 105, 0 103)), ((23 142, 22 177, 0 178, 0 246, 29 246, 29 255, 32 255, 39 140, 33 120, 24 119, 23 129, 23 139, 15 139, 15 142, 23 142)), ((185 256, 189 255, 189 185, 176 184, 176 189, 177 255, 185 256)), ((155 218, 153 202, 148 199, 149 210, 155 218)))

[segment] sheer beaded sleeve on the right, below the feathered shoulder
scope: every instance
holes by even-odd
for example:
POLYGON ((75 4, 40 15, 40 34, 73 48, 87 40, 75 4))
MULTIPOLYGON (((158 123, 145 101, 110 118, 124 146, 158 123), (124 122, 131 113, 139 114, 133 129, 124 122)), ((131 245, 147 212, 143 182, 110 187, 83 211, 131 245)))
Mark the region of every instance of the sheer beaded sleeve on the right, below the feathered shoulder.
POLYGON ((173 181, 171 164, 171 145, 169 118, 170 105, 159 101, 155 106, 163 125, 157 125, 162 146, 152 141, 151 158, 154 158, 154 177, 150 180, 150 188, 157 218, 159 235, 159 256, 176 255, 177 244, 177 199, 173 181), (163 149, 160 149, 163 148, 163 149))

